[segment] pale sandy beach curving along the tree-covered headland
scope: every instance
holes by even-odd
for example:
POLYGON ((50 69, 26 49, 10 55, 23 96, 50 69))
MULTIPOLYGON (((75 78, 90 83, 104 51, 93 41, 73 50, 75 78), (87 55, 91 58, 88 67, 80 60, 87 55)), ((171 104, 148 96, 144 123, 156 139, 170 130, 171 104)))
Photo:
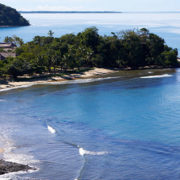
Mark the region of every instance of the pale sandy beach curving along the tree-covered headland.
MULTIPOLYGON (((93 68, 92 70, 86 71, 83 74, 77 73, 77 74, 70 74, 70 75, 64 75, 63 77, 59 76, 53 76, 51 78, 48 78, 46 80, 26 80, 26 81, 11 81, 7 84, 0 84, 0 91, 6 91, 11 89, 17 89, 21 87, 30 87, 33 85, 43 85, 43 84, 52 84, 55 82, 64 82, 69 80, 75 80, 75 79, 88 79, 97 77, 98 75, 106 75, 115 73, 115 70, 110 69, 104 69, 104 68, 93 68)), ((1 152, 1 149, 0 149, 1 152)))

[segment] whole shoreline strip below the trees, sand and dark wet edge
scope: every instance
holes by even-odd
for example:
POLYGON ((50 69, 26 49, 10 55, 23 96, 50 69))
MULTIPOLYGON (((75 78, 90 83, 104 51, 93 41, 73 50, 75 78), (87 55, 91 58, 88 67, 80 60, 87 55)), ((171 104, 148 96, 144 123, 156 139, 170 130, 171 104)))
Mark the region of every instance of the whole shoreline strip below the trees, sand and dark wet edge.
MULTIPOLYGON (((177 67, 179 68, 179 67, 177 67)), ((162 67, 153 67, 153 66, 147 66, 147 67, 141 67, 139 69, 107 69, 107 68, 92 68, 90 70, 84 71, 83 73, 72 73, 72 74, 64 74, 64 75, 58 75, 58 74, 45 74, 43 76, 21 76, 19 81, 6 81, 1 82, 0 81, 0 93, 5 91, 10 91, 14 89, 19 88, 28 88, 31 86, 36 85, 58 85, 63 83, 69 83, 71 81, 77 80, 91 80, 94 78, 95 80, 99 78, 110 78, 107 77, 107 75, 115 74, 118 72, 128 72, 128 71, 134 71, 134 70, 171 70, 171 69, 177 69, 177 68, 162 68, 162 67), (53 76, 49 76, 53 75, 53 76), (105 77, 104 77, 105 76, 105 77), (25 80, 24 80, 25 79, 25 80)), ((127 74, 126 74, 127 75, 127 74)), ((146 74, 148 75, 148 74, 146 74)))

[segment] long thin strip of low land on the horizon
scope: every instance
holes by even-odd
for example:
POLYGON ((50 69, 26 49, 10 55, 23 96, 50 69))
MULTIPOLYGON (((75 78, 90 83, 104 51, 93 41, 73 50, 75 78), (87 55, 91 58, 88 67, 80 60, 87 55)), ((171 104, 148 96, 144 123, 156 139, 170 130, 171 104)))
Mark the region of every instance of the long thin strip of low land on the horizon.
POLYGON ((20 11, 20 13, 121 13, 119 11, 20 11))

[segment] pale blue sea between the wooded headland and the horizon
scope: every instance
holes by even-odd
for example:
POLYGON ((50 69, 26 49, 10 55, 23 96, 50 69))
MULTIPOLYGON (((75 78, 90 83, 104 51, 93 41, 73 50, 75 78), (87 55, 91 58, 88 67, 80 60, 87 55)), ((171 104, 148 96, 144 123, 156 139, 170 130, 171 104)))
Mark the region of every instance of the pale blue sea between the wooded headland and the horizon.
POLYGON ((46 36, 52 30, 56 37, 67 33, 78 33, 87 27, 96 26, 101 35, 128 29, 148 28, 160 35, 169 46, 180 50, 180 13, 60 13, 60 14, 22 14, 31 26, 0 28, 0 41, 6 36, 17 35, 25 42, 34 36, 46 36))

